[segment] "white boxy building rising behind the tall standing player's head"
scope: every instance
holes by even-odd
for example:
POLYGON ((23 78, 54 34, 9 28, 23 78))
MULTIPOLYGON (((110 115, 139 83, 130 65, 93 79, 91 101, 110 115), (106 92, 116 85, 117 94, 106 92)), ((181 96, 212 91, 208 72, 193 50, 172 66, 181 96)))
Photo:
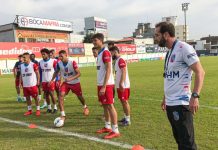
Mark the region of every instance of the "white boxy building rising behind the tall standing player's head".
POLYGON ((86 34, 102 33, 105 39, 108 38, 107 20, 98 17, 85 18, 85 32, 86 34))

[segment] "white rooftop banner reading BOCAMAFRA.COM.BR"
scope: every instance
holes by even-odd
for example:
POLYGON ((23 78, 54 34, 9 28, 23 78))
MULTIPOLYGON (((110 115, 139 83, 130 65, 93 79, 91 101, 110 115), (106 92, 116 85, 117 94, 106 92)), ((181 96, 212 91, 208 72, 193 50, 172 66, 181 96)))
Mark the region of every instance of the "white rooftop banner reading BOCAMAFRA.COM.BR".
POLYGON ((21 28, 49 29, 59 31, 73 31, 72 23, 50 19, 17 16, 18 26, 21 28))

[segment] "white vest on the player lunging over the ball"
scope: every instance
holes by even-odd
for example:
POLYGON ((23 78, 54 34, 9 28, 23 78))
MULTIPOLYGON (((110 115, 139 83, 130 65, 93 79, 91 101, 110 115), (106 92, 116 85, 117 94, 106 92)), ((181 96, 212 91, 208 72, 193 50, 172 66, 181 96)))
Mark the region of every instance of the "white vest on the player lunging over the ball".
MULTIPOLYGON (((58 62, 58 66, 60 68, 62 78, 67 79, 68 77, 76 75, 76 71, 73 67, 73 62, 74 61, 68 60, 68 63, 66 66, 64 66, 62 61, 58 62)), ((76 79, 74 79, 70 82, 67 82, 67 83, 68 84, 76 84, 76 83, 80 83, 80 80, 79 80, 79 78, 76 78, 76 79)))

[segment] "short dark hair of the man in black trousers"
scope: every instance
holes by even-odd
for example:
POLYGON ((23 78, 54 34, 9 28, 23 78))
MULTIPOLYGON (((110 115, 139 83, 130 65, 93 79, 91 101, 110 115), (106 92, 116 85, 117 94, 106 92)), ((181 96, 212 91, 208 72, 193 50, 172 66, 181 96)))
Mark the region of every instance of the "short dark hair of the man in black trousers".
POLYGON ((160 33, 168 32, 171 37, 175 37, 175 27, 172 23, 160 22, 155 25, 155 28, 160 27, 160 33))

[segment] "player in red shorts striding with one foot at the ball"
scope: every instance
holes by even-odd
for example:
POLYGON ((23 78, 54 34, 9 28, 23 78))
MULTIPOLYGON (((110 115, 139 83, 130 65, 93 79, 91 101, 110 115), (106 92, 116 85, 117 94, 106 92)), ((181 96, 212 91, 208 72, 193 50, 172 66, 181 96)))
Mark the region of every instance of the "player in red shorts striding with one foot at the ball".
POLYGON ((61 77, 63 78, 63 83, 60 87, 60 95, 59 95, 59 107, 61 111, 61 118, 65 120, 66 114, 64 111, 64 96, 69 93, 71 90, 74 94, 76 94, 77 98, 80 100, 83 105, 83 113, 85 116, 89 115, 89 109, 85 103, 85 99, 82 95, 82 89, 80 85, 79 77, 81 76, 79 67, 75 61, 71 61, 67 58, 67 52, 65 50, 61 50, 59 52, 59 58, 61 61, 57 64, 57 69, 53 74, 52 80, 56 78, 58 73, 60 72, 61 77))

